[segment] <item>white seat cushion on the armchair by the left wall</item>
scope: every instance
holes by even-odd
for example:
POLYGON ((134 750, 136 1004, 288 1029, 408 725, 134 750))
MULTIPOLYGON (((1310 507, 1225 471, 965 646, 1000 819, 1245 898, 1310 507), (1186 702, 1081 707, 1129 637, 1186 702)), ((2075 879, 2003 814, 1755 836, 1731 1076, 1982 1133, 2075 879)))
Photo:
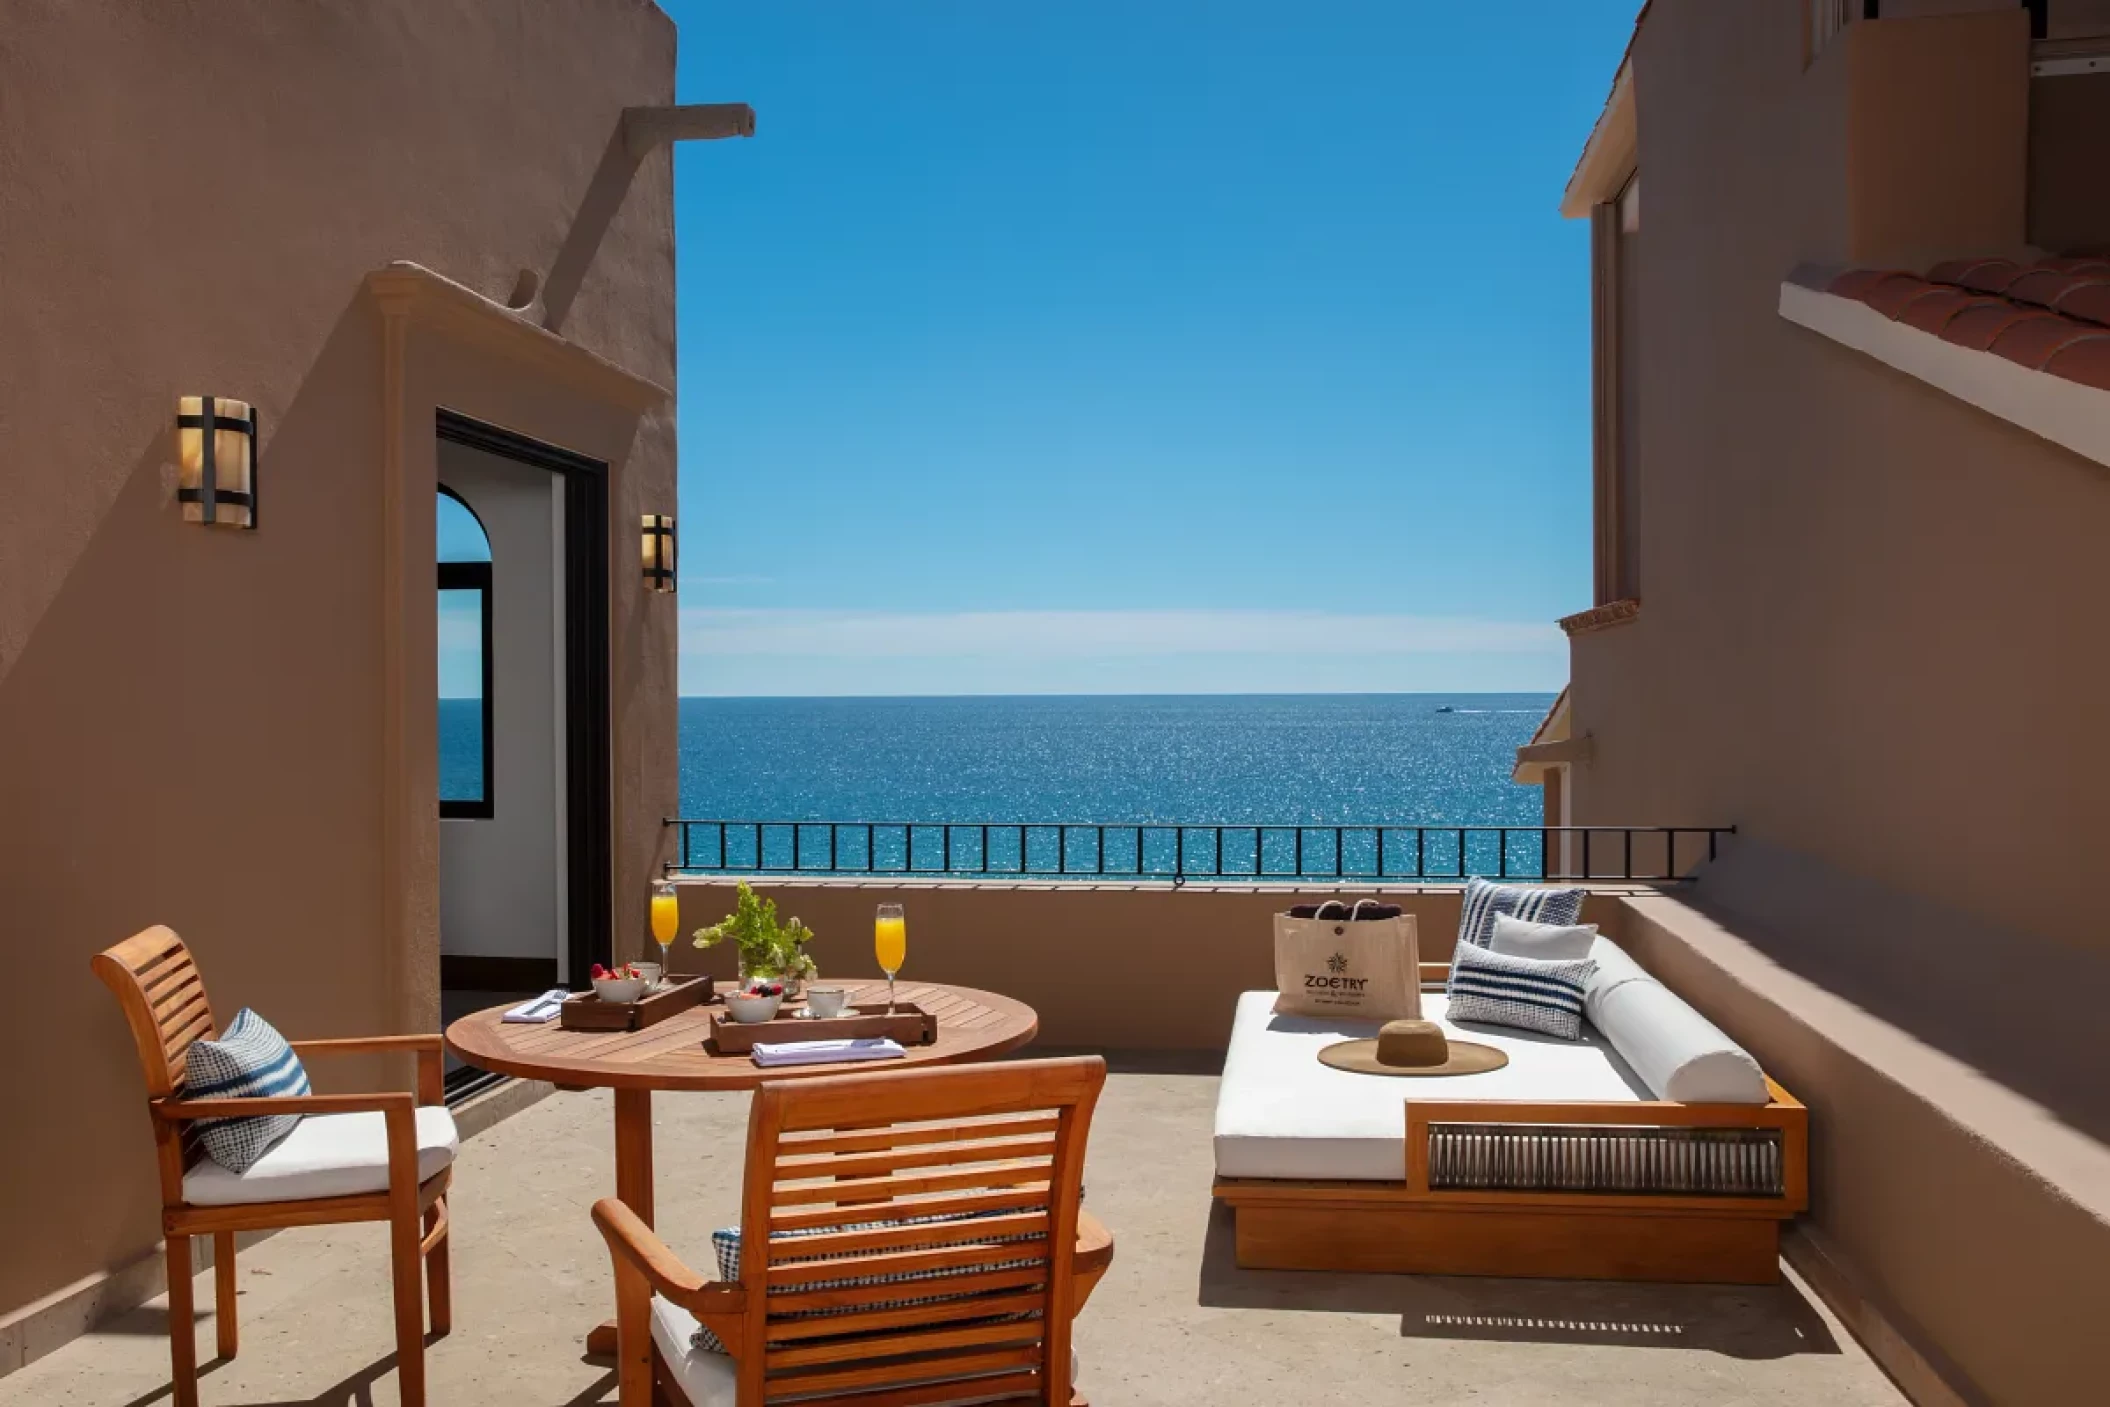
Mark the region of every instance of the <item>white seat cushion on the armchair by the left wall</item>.
MULTIPOLYGON (((454 1116, 441 1107, 418 1110, 418 1181, 454 1162, 460 1139, 454 1116)), ((203 1158, 184 1173, 184 1200, 192 1207, 236 1202, 298 1202, 316 1196, 357 1196, 388 1190, 388 1120, 380 1112, 310 1114, 247 1173, 230 1173, 203 1158)))

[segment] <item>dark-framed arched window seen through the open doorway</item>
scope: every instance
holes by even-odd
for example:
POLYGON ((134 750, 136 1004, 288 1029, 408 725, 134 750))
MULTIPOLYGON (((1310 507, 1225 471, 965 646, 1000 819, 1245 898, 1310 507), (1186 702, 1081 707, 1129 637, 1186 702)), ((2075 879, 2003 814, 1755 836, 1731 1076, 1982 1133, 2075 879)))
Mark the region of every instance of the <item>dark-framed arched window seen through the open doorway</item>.
POLYGON ((439 492, 439 814, 475 821, 492 797, 492 540, 439 492))

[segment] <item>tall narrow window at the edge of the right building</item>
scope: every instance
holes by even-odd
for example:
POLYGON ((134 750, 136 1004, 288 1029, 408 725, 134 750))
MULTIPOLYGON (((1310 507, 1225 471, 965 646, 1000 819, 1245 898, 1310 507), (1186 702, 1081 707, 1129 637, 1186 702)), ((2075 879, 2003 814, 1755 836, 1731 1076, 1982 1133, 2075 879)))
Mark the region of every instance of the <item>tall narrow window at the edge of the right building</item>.
POLYGON ((1642 177, 1591 211, 1595 597, 1642 599, 1642 177))

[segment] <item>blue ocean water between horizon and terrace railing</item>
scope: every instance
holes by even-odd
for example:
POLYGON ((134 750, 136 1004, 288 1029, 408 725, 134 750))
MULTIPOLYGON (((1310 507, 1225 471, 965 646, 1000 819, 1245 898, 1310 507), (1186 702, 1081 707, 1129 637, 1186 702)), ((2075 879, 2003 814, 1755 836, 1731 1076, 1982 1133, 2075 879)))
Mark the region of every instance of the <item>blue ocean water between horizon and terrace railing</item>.
MULTIPOLYGON (((1540 791, 1511 783, 1509 770, 1551 702, 1551 694, 684 698, 679 814, 1538 825, 1540 791)), ((475 734, 475 700, 441 700, 441 778, 452 789, 443 795, 473 791, 475 734)), ((734 831, 736 846, 751 844, 743 835, 751 831, 734 831)), ((715 831, 698 840, 715 850, 715 831)), ((789 831, 770 844, 770 861, 787 863, 789 831)), ((992 863, 1004 844, 1015 833, 992 840, 992 863)), ((1036 865, 1053 859, 1053 833, 1034 837, 1036 865)), ((1152 840, 1160 844, 1171 837, 1152 840)), ((1226 844, 1249 848, 1251 833, 1226 844)), ((1274 869, 1274 848, 1291 840, 1268 844, 1274 869)), ((1473 846, 1477 856, 1492 837, 1473 846)))

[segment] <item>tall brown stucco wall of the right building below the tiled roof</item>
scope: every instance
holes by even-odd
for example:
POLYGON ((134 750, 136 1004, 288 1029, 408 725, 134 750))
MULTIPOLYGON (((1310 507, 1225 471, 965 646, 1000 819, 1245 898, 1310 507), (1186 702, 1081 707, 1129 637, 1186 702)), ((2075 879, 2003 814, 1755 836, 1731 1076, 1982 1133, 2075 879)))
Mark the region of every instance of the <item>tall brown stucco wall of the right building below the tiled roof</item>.
POLYGON ((2074 747, 2110 686, 2072 648, 2104 603, 2102 470, 1779 319, 1806 78, 1781 6, 1658 4, 1639 32, 1650 580, 1572 645, 1576 821, 1734 823, 2110 947, 2066 920, 2074 856, 2110 842, 2110 768, 2074 747))

